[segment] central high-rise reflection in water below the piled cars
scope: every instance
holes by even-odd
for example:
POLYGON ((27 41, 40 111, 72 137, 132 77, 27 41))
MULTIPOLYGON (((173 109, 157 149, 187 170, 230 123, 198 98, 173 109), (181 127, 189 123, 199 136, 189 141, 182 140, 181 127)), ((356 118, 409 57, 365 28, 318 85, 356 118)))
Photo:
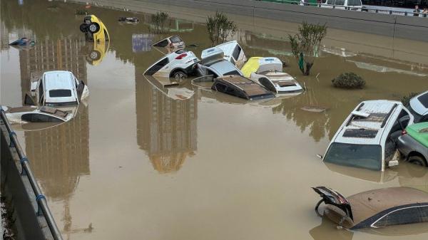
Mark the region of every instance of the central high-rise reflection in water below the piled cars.
POLYGON ((195 154, 197 108, 197 94, 170 99, 136 71, 137 142, 158 172, 176 172, 195 154))

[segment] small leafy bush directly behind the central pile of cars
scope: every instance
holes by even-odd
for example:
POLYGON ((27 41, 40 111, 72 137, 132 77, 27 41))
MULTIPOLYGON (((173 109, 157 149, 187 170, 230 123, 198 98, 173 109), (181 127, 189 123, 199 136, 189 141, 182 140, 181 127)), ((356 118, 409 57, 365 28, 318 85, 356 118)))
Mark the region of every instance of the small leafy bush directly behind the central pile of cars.
POLYGON ((230 36, 235 35, 238 27, 232 20, 228 19, 228 16, 216 11, 214 16, 208 16, 207 30, 211 44, 215 46, 224 43, 230 36))

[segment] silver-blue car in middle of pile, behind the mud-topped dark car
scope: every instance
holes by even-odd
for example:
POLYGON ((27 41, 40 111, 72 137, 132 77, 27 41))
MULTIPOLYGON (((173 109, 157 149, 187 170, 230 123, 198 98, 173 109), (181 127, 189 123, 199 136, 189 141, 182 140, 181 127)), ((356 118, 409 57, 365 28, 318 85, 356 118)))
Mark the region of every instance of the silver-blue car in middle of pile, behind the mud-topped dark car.
POLYGON ((213 78, 224 75, 241 75, 243 73, 230 61, 224 59, 225 54, 218 47, 202 51, 201 63, 198 65, 200 75, 213 75, 213 78))

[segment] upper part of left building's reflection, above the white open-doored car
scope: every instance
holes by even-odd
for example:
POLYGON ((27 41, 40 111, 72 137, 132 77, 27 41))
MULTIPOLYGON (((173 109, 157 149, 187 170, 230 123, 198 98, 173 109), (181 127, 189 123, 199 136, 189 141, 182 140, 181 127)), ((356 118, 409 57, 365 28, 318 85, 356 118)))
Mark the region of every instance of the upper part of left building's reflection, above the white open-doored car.
POLYGON ((33 48, 19 51, 22 99, 30 90, 31 73, 66 70, 73 72, 78 80, 86 81, 85 53, 82 51, 85 43, 84 38, 46 39, 37 41, 33 48))

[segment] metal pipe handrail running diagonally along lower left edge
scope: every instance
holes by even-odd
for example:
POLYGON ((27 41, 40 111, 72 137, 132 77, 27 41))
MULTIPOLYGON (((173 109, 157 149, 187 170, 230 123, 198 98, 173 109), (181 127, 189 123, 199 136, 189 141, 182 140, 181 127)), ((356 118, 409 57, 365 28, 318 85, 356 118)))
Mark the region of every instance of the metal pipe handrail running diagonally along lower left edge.
POLYGON ((29 160, 24 155, 24 151, 22 150, 21 145, 19 145, 18 137, 16 137, 16 133, 14 132, 14 130, 12 130, 11 124, 7 120, 6 113, 4 113, 3 109, 0 109, 0 114, 1 120, 3 120, 4 125, 6 125, 6 129, 9 133, 11 147, 14 147, 16 149, 16 152, 18 153, 22 167, 21 174, 26 175, 28 177, 29 182, 31 184, 31 189, 33 189, 34 194, 36 195, 36 202, 38 206, 37 215, 44 215, 49 229, 51 230, 51 234, 55 240, 63 240, 61 236, 61 231, 59 231, 58 226, 56 226, 54 216, 52 216, 51 210, 48 207, 48 202, 46 201, 44 194, 41 192, 39 184, 37 184, 36 178, 34 177, 34 174, 31 171, 29 160))

